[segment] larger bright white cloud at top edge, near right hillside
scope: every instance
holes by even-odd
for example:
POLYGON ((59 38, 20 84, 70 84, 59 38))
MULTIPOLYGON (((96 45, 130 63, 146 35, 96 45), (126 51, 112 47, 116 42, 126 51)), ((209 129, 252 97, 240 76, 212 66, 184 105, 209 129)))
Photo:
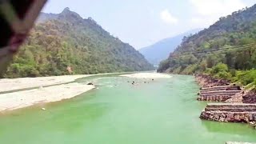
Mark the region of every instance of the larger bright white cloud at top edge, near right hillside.
POLYGON ((190 0, 198 14, 204 16, 226 16, 246 7, 241 0, 190 0))

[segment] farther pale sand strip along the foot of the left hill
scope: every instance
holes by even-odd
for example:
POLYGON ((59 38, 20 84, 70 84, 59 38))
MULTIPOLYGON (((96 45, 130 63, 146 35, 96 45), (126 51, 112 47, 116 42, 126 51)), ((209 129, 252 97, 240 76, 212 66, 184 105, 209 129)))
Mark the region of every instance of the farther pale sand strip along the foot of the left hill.
POLYGON ((10 90, 21 90, 39 86, 51 86, 63 84, 66 82, 74 82, 78 78, 85 78, 92 75, 63 75, 54 77, 38 77, 38 78, 4 78, 0 79, 0 92, 10 90))

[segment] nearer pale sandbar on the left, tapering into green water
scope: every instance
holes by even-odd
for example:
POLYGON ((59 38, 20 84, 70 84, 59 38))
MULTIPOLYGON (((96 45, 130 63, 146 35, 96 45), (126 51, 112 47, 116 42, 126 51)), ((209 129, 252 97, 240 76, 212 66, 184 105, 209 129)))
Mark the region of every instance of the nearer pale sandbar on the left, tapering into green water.
POLYGON ((63 99, 74 98, 75 96, 92 89, 94 89, 94 86, 70 83, 34 90, 0 94, 0 111, 16 110, 27 106, 33 106, 38 103, 58 102, 63 99))

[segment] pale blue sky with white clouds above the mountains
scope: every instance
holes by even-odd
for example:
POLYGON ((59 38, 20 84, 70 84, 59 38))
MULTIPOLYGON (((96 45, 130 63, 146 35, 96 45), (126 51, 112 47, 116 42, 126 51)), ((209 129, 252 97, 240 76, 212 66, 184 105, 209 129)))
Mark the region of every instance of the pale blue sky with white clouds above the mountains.
POLYGON ((255 0, 48 0, 43 12, 66 7, 82 18, 92 17, 110 34, 135 49, 150 46, 255 4, 255 0))

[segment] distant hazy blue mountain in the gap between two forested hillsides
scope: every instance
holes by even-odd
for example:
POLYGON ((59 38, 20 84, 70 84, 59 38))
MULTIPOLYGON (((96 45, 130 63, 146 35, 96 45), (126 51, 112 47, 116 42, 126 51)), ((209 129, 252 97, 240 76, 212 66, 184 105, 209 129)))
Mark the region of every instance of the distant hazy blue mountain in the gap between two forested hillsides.
POLYGON ((139 52, 141 52, 150 63, 158 65, 162 60, 168 58, 170 52, 173 52, 175 48, 181 44, 182 38, 190 34, 195 34, 200 30, 202 29, 190 30, 184 34, 163 39, 151 46, 140 49, 139 52))

